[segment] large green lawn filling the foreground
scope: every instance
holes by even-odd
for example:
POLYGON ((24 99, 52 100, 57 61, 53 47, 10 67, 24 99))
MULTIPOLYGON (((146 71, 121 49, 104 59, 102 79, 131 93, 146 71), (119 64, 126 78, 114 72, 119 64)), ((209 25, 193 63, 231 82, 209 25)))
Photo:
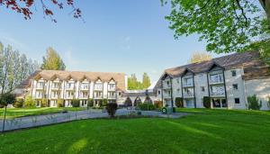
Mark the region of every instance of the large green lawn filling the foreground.
POLYGON ((270 112, 67 122, 0 136, 0 153, 269 153, 270 112))

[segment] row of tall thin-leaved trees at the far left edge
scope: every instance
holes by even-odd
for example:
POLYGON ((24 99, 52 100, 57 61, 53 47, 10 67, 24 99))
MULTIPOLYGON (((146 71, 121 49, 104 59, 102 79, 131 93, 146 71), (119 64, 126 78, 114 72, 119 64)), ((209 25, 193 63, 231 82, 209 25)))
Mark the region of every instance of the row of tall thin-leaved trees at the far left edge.
POLYGON ((0 42, 0 94, 11 92, 24 79, 39 69, 37 61, 32 62, 12 46, 0 42))

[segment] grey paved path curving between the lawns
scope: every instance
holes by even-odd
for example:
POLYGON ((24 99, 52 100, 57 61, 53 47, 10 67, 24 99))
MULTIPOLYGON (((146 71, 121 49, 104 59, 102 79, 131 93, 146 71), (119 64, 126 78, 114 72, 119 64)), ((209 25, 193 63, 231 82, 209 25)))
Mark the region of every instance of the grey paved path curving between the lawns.
MULTIPOLYGON (((128 115, 131 113, 137 113, 134 110, 119 109, 116 112, 116 115, 128 115)), ((173 114, 162 114, 161 112, 156 111, 141 111, 142 115, 156 116, 156 117, 169 117, 169 118, 179 118, 186 115, 187 113, 173 113, 173 114)), ((52 113, 47 115, 36 115, 36 116, 27 116, 21 118, 15 118, 13 120, 6 120, 4 125, 4 131, 12 131, 24 128, 37 127, 42 125, 49 125, 53 123, 60 122, 70 122, 81 119, 94 119, 94 118, 103 118, 108 117, 108 113, 103 112, 102 110, 85 110, 78 112, 68 112, 68 113, 52 113)), ((0 121, 0 131, 2 131, 3 120, 0 121)))

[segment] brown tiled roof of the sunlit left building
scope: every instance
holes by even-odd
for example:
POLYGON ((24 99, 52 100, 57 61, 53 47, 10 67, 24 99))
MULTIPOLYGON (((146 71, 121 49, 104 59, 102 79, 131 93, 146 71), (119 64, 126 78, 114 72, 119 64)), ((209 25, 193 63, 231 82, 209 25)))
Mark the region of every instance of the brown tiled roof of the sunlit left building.
POLYGON ((40 72, 36 73, 34 76, 31 76, 30 78, 39 79, 41 77, 46 80, 51 80, 56 77, 58 77, 60 80, 67 80, 70 77, 73 78, 74 80, 83 80, 86 78, 92 82, 94 82, 97 79, 101 79, 102 81, 109 82, 111 79, 113 79, 117 83, 118 90, 122 90, 122 91, 125 90, 125 74, 124 73, 41 70, 40 72))

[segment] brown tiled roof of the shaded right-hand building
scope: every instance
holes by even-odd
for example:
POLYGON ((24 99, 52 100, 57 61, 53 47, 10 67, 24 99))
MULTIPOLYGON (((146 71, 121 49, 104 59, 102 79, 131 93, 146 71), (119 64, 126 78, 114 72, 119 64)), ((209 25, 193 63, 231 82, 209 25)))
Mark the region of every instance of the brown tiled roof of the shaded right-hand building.
MULTIPOLYGON (((233 68, 244 68, 248 75, 243 77, 245 79, 252 79, 252 77, 269 77, 269 72, 266 72, 266 68, 269 68, 263 62, 259 61, 259 53, 257 51, 246 51, 242 53, 233 53, 228 56, 223 56, 208 61, 202 61, 193 64, 187 64, 176 68, 168 68, 164 71, 164 74, 168 74, 172 77, 180 77, 183 75, 186 69, 189 69, 194 74, 208 71, 213 65, 218 65, 225 70, 233 68), (265 67, 264 71, 256 71, 257 67, 265 67), (252 69, 251 69, 252 68, 252 69), (252 75, 252 76, 251 76, 252 75)), ((162 76, 163 76, 162 75, 162 76)), ((161 78, 157 82, 157 87, 161 86, 161 78)))

